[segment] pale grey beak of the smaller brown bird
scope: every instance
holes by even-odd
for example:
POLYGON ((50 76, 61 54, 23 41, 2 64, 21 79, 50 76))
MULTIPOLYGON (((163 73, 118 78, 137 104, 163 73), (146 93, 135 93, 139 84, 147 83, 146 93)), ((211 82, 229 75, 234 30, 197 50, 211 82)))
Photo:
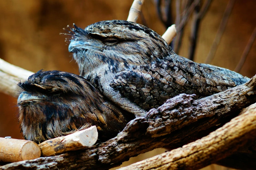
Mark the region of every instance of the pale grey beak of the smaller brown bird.
POLYGON ((22 92, 17 100, 18 105, 22 105, 28 102, 42 101, 45 99, 44 95, 35 95, 30 92, 22 92))

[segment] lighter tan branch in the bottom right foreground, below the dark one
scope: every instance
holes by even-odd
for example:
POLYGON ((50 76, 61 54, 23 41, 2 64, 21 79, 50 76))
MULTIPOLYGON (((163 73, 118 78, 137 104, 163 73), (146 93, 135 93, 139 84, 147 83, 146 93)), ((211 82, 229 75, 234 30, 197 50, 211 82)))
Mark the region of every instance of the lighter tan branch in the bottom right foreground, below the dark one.
POLYGON ((186 169, 194 170, 221 160, 256 137, 256 109, 233 118, 209 135, 182 148, 131 164, 119 170, 186 169))

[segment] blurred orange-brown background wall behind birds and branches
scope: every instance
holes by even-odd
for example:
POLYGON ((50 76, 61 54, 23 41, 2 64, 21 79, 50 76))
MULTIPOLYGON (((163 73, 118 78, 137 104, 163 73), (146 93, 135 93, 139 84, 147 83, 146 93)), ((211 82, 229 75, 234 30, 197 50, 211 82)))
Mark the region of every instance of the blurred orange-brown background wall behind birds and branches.
MULTIPOLYGON (((72 54, 68 52, 63 27, 75 23, 81 28, 97 21, 126 20, 133 0, 1 0, 0 58, 24 69, 40 69, 78 73, 72 54)), ((175 1, 172 1, 175 6, 175 1)), ((216 36, 228 0, 213 0, 199 27, 195 61, 203 63, 216 36)), ((236 0, 226 29, 211 64, 233 70, 240 60, 256 26, 256 1, 236 0)), ((145 0, 142 8, 144 24, 162 35, 166 28, 159 20, 153 0, 145 0)), ((142 20, 138 20, 142 23, 142 20)), ((185 26, 179 55, 187 57, 190 21, 185 26)), ((256 42, 240 73, 256 74, 256 42)), ((1 80, 0 80, 1 81, 1 80)), ((18 123, 17 99, 0 93, 0 137, 22 139, 18 123)), ((147 154, 159 154, 160 149, 147 154)), ((138 161, 142 158, 133 158, 138 161)), ((143 158, 145 159, 145 158, 143 158)), ((210 169, 221 167, 211 166, 210 169)))

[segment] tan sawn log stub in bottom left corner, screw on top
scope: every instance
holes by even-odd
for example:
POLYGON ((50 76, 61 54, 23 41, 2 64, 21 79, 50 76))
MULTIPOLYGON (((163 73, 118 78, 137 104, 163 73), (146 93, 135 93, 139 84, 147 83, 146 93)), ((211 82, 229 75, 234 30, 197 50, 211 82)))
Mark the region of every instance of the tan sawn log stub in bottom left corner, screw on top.
POLYGON ((0 137, 0 161, 18 162, 39 158, 39 146, 30 140, 5 139, 0 137))

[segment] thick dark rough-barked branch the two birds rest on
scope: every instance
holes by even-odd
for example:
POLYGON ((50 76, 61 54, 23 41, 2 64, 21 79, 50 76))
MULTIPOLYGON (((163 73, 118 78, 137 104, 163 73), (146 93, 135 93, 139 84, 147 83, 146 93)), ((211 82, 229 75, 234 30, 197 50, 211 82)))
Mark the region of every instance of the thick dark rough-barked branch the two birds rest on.
POLYGON ((235 117, 242 108, 255 103, 255 79, 253 77, 246 84, 195 101, 194 95, 181 94, 163 106, 151 109, 146 117, 130 121, 117 137, 104 143, 76 152, 10 163, 1 166, 0 170, 39 167, 101 170, 116 167, 140 153, 184 142, 190 136, 224 122, 228 115, 235 117))

